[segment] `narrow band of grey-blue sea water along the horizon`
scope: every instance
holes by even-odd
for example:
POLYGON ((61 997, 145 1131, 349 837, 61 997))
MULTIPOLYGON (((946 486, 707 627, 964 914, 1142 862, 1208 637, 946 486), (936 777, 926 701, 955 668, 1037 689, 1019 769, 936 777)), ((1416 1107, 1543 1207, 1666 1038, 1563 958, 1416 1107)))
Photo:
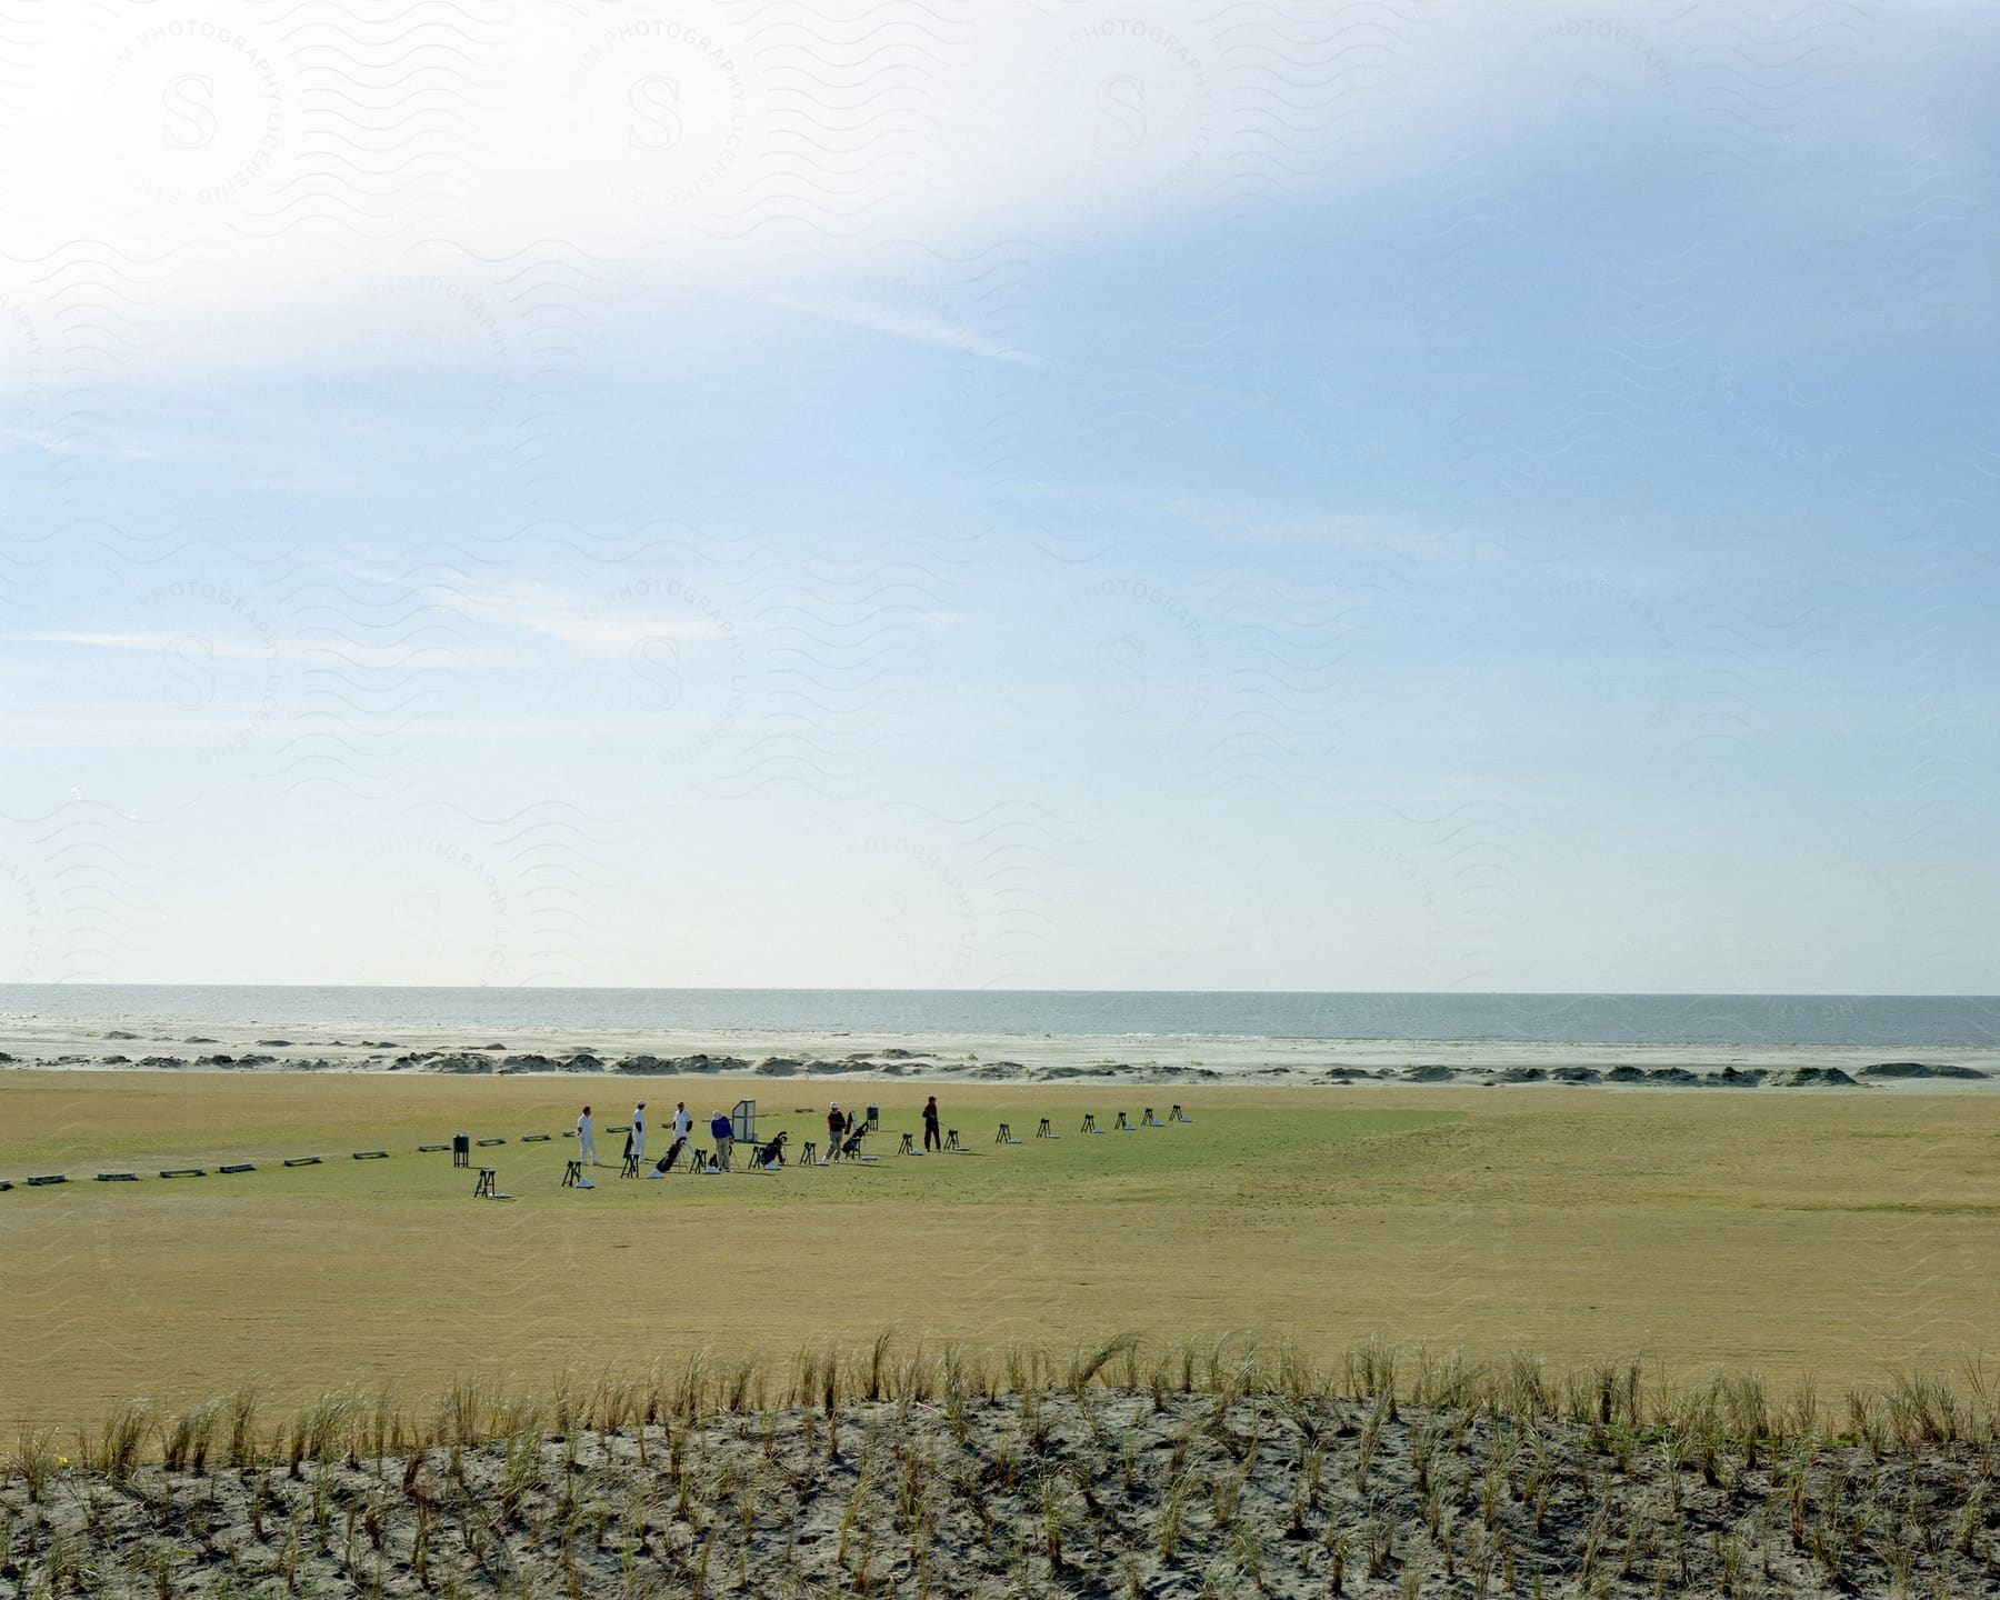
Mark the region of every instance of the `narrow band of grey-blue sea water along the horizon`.
POLYGON ((0 984, 42 1022, 2000 1048, 1996 996, 0 984))

